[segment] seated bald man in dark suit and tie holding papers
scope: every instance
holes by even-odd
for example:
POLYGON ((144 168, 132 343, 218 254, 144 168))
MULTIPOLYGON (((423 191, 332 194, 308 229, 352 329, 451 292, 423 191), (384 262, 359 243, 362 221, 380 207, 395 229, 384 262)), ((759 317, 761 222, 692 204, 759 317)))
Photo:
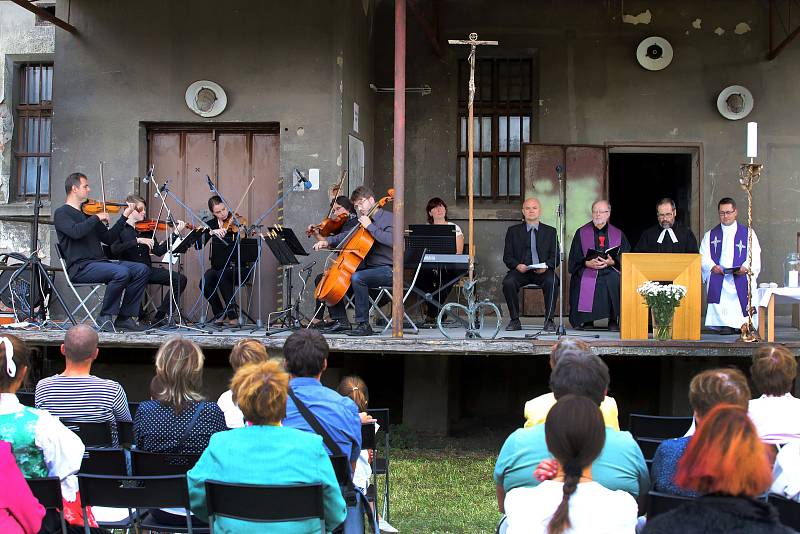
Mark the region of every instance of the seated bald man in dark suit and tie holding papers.
POLYGON ((520 330, 519 289, 527 284, 541 286, 544 293, 544 329, 553 330, 553 310, 556 304, 558 277, 558 244, 556 229, 539 221, 542 207, 537 198, 528 198, 522 204, 525 222, 515 224, 506 232, 503 263, 509 271, 503 279, 503 295, 506 297, 511 320, 506 330, 520 330), (544 264, 542 267, 534 265, 544 264))

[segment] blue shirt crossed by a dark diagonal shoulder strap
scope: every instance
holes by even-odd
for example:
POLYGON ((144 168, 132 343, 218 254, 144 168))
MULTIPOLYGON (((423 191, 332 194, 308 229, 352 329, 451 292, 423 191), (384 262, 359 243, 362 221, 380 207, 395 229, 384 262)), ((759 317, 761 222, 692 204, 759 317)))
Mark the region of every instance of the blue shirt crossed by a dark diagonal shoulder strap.
MULTIPOLYGON (((289 387, 342 449, 342 454, 350 462, 358 460, 361 454, 361 417, 352 399, 326 388, 316 378, 293 378, 289 381, 289 387)), ((316 433, 297 410, 291 397, 286 399, 286 419, 283 420, 283 426, 316 433)), ((328 454, 333 453, 328 450, 328 454)))

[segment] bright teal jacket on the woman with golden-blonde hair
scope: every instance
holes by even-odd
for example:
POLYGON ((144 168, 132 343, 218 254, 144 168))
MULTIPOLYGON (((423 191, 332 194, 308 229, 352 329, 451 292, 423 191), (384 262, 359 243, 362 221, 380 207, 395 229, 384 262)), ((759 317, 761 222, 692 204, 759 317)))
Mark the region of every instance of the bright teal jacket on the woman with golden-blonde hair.
MULTIPOLYGON (((192 512, 208 521, 206 480, 244 484, 321 483, 325 505, 325 529, 339 526, 347 514, 336 475, 322 438, 282 426, 246 426, 211 436, 208 448, 186 474, 192 512)), ((264 532, 265 523, 218 517, 215 532, 264 532)), ((319 522, 269 523, 271 533, 318 533, 319 522)))

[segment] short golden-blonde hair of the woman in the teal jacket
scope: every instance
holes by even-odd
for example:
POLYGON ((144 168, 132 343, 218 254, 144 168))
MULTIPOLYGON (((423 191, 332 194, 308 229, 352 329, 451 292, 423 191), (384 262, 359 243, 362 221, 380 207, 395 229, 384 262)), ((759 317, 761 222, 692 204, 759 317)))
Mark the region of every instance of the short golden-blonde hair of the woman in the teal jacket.
POLYGON ((289 374, 275 360, 245 364, 231 379, 233 402, 254 425, 275 424, 286 417, 288 390, 289 374))

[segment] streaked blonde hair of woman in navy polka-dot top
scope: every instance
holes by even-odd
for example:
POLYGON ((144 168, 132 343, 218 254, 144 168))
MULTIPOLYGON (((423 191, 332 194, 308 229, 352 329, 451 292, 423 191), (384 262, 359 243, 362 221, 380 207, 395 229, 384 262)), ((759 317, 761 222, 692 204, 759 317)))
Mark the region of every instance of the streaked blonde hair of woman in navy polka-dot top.
POLYGON ((165 341, 156 353, 156 379, 151 384, 153 399, 180 413, 189 402, 203 399, 203 351, 180 336, 165 341))

